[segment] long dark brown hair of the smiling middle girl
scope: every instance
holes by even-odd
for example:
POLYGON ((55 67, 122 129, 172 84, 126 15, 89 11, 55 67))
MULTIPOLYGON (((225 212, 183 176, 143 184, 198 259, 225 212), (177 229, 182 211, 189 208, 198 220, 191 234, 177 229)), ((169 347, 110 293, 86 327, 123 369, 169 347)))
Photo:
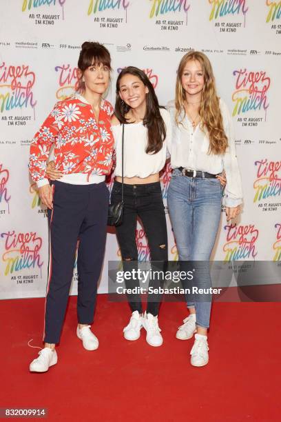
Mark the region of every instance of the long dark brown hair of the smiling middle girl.
POLYGON ((160 114, 160 107, 156 97, 152 83, 149 81, 147 75, 143 70, 128 66, 121 70, 116 81, 116 103, 114 113, 121 123, 128 123, 125 115, 130 110, 130 107, 121 99, 120 81, 125 74, 132 74, 144 83, 148 88, 146 94, 146 112, 143 119, 143 125, 147 128, 147 154, 156 154, 163 147, 163 141, 166 138, 166 127, 163 118, 160 114))

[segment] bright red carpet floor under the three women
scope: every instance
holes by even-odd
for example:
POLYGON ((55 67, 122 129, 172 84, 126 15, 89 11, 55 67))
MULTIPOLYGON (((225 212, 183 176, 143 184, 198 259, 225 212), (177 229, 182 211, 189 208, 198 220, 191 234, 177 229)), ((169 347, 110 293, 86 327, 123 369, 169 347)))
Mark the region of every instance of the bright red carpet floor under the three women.
POLYGON ((28 365, 41 346, 44 299, 1 301, 0 407, 48 408, 48 421, 280 421, 281 304, 214 303, 209 365, 191 367, 193 343, 174 334, 184 303, 164 303, 164 344, 123 339, 127 303, 98 295, 97 351, 76 338, 70 298, 59 363, 45 374, 28 365))

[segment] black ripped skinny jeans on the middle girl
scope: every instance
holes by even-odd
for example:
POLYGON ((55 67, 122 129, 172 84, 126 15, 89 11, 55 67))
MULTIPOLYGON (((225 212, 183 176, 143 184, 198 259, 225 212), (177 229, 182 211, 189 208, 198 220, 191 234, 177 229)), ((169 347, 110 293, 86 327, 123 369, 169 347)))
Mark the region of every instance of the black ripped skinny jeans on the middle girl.
MULTIPOLYGON (((114 182, 111 203, 121 201, 121 186, 114 182)), ((124 210, 122 224, 116 227, 116 235, 121 249, 123 271, 137 269, 138 259, 145 261, 145 251, 140 250, 141 245, 136 243, 136 220, 141 219, 147 237, 152 270, 165 271, 167 253, 167 225, 160 182, 146 183, 143 185, 124 184, 124 210)), ((142 249, 142 248, 141 248, 142 249)), ((163 279, 156 277, 150 279, 149 288, 157 289, 163 279)), ((132 289, 139 286, 139 280, 125 281, 126 288, 132 289)), ((132 312, 143 312, 141 296, 138 293, 127 294, 127 299, 132 312)), ((147 313, 158 315, 161 301, 160 293, 147 294, 147 313)))

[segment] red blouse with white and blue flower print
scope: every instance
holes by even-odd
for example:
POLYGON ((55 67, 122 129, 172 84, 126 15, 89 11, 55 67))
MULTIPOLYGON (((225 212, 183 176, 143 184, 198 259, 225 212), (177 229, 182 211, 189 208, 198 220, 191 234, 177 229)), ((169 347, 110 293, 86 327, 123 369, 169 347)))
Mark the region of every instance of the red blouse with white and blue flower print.
POLYGON ((56 170, 63 174, 110 174, 114 139, 110 119, 112 105, 102 100, 99 121, 92 106, 79 94, 59 101, 30 145, 30 174, 40 187, 45 176, 50 149, 54 144, 56 170))

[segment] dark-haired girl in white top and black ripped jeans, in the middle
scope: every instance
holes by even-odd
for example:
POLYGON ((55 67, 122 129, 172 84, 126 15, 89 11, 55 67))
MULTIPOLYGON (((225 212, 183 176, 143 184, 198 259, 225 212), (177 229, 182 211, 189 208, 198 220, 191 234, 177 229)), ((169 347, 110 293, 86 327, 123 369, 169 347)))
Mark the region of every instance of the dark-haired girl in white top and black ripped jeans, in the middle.
MULTIPOLYGON (((150 259, 158 261, 163 270, 167 261, 167 227, 159 172, 166 161, 166 144, 171 137, 169 112, 159 108, 152 83, 146 74, 132 66, 118 75, 116 82, 115 116, 112 132, 116 148, 116 179, 111 202, 121 201, 122 181, 122 125, 124 124, 124 210, 122 224, 116 227, 121 248, 123 270, 137 267, 136 221, 141 219, 150 250, 150 259)), ((159 287, 160 280, 149 286, 159 287)), ((127 289, 136 289, 139 280, 126 281, 127 289)), ((124 328, 124 337, 134 341, 141 328, 147 331, 147 343, 160 346, 163 338, 158 327, 159 294, 148 294, 147 310, 143 314, 141 295, 127 294, 132 316, 124 328)))

